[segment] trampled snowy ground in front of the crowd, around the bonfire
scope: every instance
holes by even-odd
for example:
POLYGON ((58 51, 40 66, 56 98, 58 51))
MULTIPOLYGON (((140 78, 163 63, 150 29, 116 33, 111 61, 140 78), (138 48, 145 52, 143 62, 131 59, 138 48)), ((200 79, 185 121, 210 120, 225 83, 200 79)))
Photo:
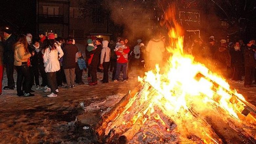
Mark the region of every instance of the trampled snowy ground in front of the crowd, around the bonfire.
MULTIPOLYGON (((85 83, 86 75, 83 73, 85 83)), ((110 72, 110 79, 111 77, 110 72)), ((98 79, 102 79, 102 73, 98 74, 98 79)), ((16 72, 14 80, 16 81, 16 72)), ((256 87, 245 88, 243 82, 229 83, 238 93, 243 94, 248 102, 256 105, 256 87)), ((6 84, 7 78, 4 74, 3 86, 6 84)), ((127 83, 110 81, 96 86, 76 85, 69 90, 59 88, 58 97, 54 98, 46 97, 48 93, 43 90, 35 90, 34 97, 17 97, 16 89, 3 90, 0 95, 0 143, 90 143, 84 137, 85 134, 78 131, 72 123, 78 114, 85 113, 79 103, 84 101, 85 106, 96 107, 97 111, 92 111, 82 118, 93 123, 102 114, 97 103, 110 103, 110 99, 114 99, 115 101, 109 104, 111 106, 138 84, 136 74, 132 73, 127 83)))

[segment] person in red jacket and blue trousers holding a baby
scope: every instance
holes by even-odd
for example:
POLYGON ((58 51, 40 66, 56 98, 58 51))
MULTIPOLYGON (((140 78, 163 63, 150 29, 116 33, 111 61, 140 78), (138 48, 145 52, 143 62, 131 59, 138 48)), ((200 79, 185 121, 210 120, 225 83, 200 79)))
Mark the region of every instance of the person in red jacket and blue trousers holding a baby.
MULTIPOLYGON (((120 40, 120 43, 124 45, 124 40, 120 40)), ((116 47, 117 48, 117 47, 116 47)), ((128 63, 128 53, 130 51, 129 47, 119 47, 116 51, 117 54, 117 71, 115 75, 114 82, 117 82, 119 80, 121 67, 123 67, 123 81, 127 81, 127 63, 128 63)))

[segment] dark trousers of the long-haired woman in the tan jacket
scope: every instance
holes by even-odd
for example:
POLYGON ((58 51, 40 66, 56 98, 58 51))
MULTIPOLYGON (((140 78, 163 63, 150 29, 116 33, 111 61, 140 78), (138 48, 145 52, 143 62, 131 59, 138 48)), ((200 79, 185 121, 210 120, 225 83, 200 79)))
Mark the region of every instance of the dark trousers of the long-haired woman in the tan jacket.
POLYGON ((29 67, 27 64, 16 66, 17 70, 17 94, 23 94, 22 89, 25 91, 25 93, 30 93, 30 72, 29 67), (22 87, 22 80, 24 78, 23 88, 22 87))

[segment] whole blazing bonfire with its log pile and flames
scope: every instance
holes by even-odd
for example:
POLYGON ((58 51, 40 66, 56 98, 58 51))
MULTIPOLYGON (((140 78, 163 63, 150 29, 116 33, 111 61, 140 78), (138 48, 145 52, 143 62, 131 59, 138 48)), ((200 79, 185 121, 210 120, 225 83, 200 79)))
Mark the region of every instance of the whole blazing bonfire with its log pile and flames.
POLYGON ((166 11, 172 56, 168 67, 138 77, 127 93, 94 125, 104 143, 255 143, 255 106, 183 52, 174 9, 166 11), (163 71, 163 72, 160 72, 163 71))

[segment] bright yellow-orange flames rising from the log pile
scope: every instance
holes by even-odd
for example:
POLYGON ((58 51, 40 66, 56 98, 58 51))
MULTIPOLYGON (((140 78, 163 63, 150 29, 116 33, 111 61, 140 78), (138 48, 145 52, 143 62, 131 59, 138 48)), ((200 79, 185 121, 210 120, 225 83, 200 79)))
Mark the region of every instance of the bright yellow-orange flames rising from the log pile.
MULTIPOLYGON (((171 40, 167 50, 172 53, 168 71, 160 73, 157 65, 155 70, 146 72, 143 78, 138 79, 142 83, 150 84, 158 91, 150 108, 153 109, 154 105, 157 105, 164 109, 164 113, 177 123, 178 130, 184 134, 183 136, 189 131, 202 137, 205 143, 217 143, 209 135, 210 130, 200 121, 196 121, 188 111, 195 105, 202 111, 215 106, 239 121, 237 113, 241 113, 243 109, 238 108, 230 100, 234 95, 238 100, 245 100, 245 98, 235 90, 231 90, 229 84, 220 75, 210 72, 203 64, 195 62, 192 55, 183 52, 182 29, 176 23, 174 13, 175 9, 169 9, 165 13, 165 24, 169 24, 168 35, 171 40)), ((145 100, 147 100, 146 95, 145 100)))

